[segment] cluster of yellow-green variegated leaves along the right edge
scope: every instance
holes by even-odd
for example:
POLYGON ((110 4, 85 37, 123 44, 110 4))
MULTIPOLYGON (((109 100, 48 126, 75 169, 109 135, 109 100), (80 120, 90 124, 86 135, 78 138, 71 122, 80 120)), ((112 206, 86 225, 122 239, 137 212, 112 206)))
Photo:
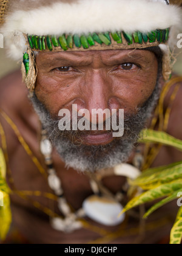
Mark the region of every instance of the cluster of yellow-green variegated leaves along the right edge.
MULTIPOLYGON (((143 130, 140 137, 139 142, 160 143, 182 151, 182 140, 175 139, 163 131, 143 130)), ((182 192, 182 161, 157 168, 149 168, 143 171, 134 181, 130 181, 130 184, 141 187, 144 192, 132 198, 124 207, 123 212, 140 204, 161 198, 161 201, 150 207, 144 214, 143 218, 147 218, 159 207, 178 198, 178 192, 182 192)), ((181 238, 182 206, 178 210, 174 226, 170 231, 170 244, 180 244, 181 238)))

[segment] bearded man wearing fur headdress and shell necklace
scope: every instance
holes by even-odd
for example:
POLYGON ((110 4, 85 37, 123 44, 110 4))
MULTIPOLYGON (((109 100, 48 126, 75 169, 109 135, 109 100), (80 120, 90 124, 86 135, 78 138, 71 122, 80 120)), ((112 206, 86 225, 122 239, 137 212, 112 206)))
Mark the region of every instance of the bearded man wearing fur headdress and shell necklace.
POLYGON ((171 108, 163 130, 182 139, 182 80, 170 78, 167 43, 180 8, 167 0, 7 2, 1 31, 28 88, 19 71, 1 80, 11 230, 21 234, 10 231, 7 243, 160 243, 174 212, 164 207, 146 225, 142 208, 118 213, 130 198, 126 178, 142 164, 181 160, 162 147, 149 164, 136 144, 162 88, 164 113, 171 108), (100 119, 93 109, 107 111, 100 119))

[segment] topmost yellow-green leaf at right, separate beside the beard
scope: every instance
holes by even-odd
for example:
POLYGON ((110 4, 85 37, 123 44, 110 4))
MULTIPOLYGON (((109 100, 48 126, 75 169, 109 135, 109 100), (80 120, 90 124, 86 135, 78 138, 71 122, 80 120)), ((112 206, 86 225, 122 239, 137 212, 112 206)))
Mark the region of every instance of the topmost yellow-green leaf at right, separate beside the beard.
POLYGON ((153 131, 150 129, 143 130, 140 134, 139 142, 153 142, 163 144, 182 151, 182 141, 175 139, 175 137, 167 133, 164 133, 164 131, 153 131))

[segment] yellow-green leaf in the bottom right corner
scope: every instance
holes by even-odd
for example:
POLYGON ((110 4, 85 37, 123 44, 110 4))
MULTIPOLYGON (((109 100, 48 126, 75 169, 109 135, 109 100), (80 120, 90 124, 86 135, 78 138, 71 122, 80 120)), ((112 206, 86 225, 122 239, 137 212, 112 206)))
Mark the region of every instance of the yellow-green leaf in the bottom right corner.
POLYGON ((170 244, 180 244, 182 238, 182 206, 178 210, 174 226, 170 230, 170 244))

